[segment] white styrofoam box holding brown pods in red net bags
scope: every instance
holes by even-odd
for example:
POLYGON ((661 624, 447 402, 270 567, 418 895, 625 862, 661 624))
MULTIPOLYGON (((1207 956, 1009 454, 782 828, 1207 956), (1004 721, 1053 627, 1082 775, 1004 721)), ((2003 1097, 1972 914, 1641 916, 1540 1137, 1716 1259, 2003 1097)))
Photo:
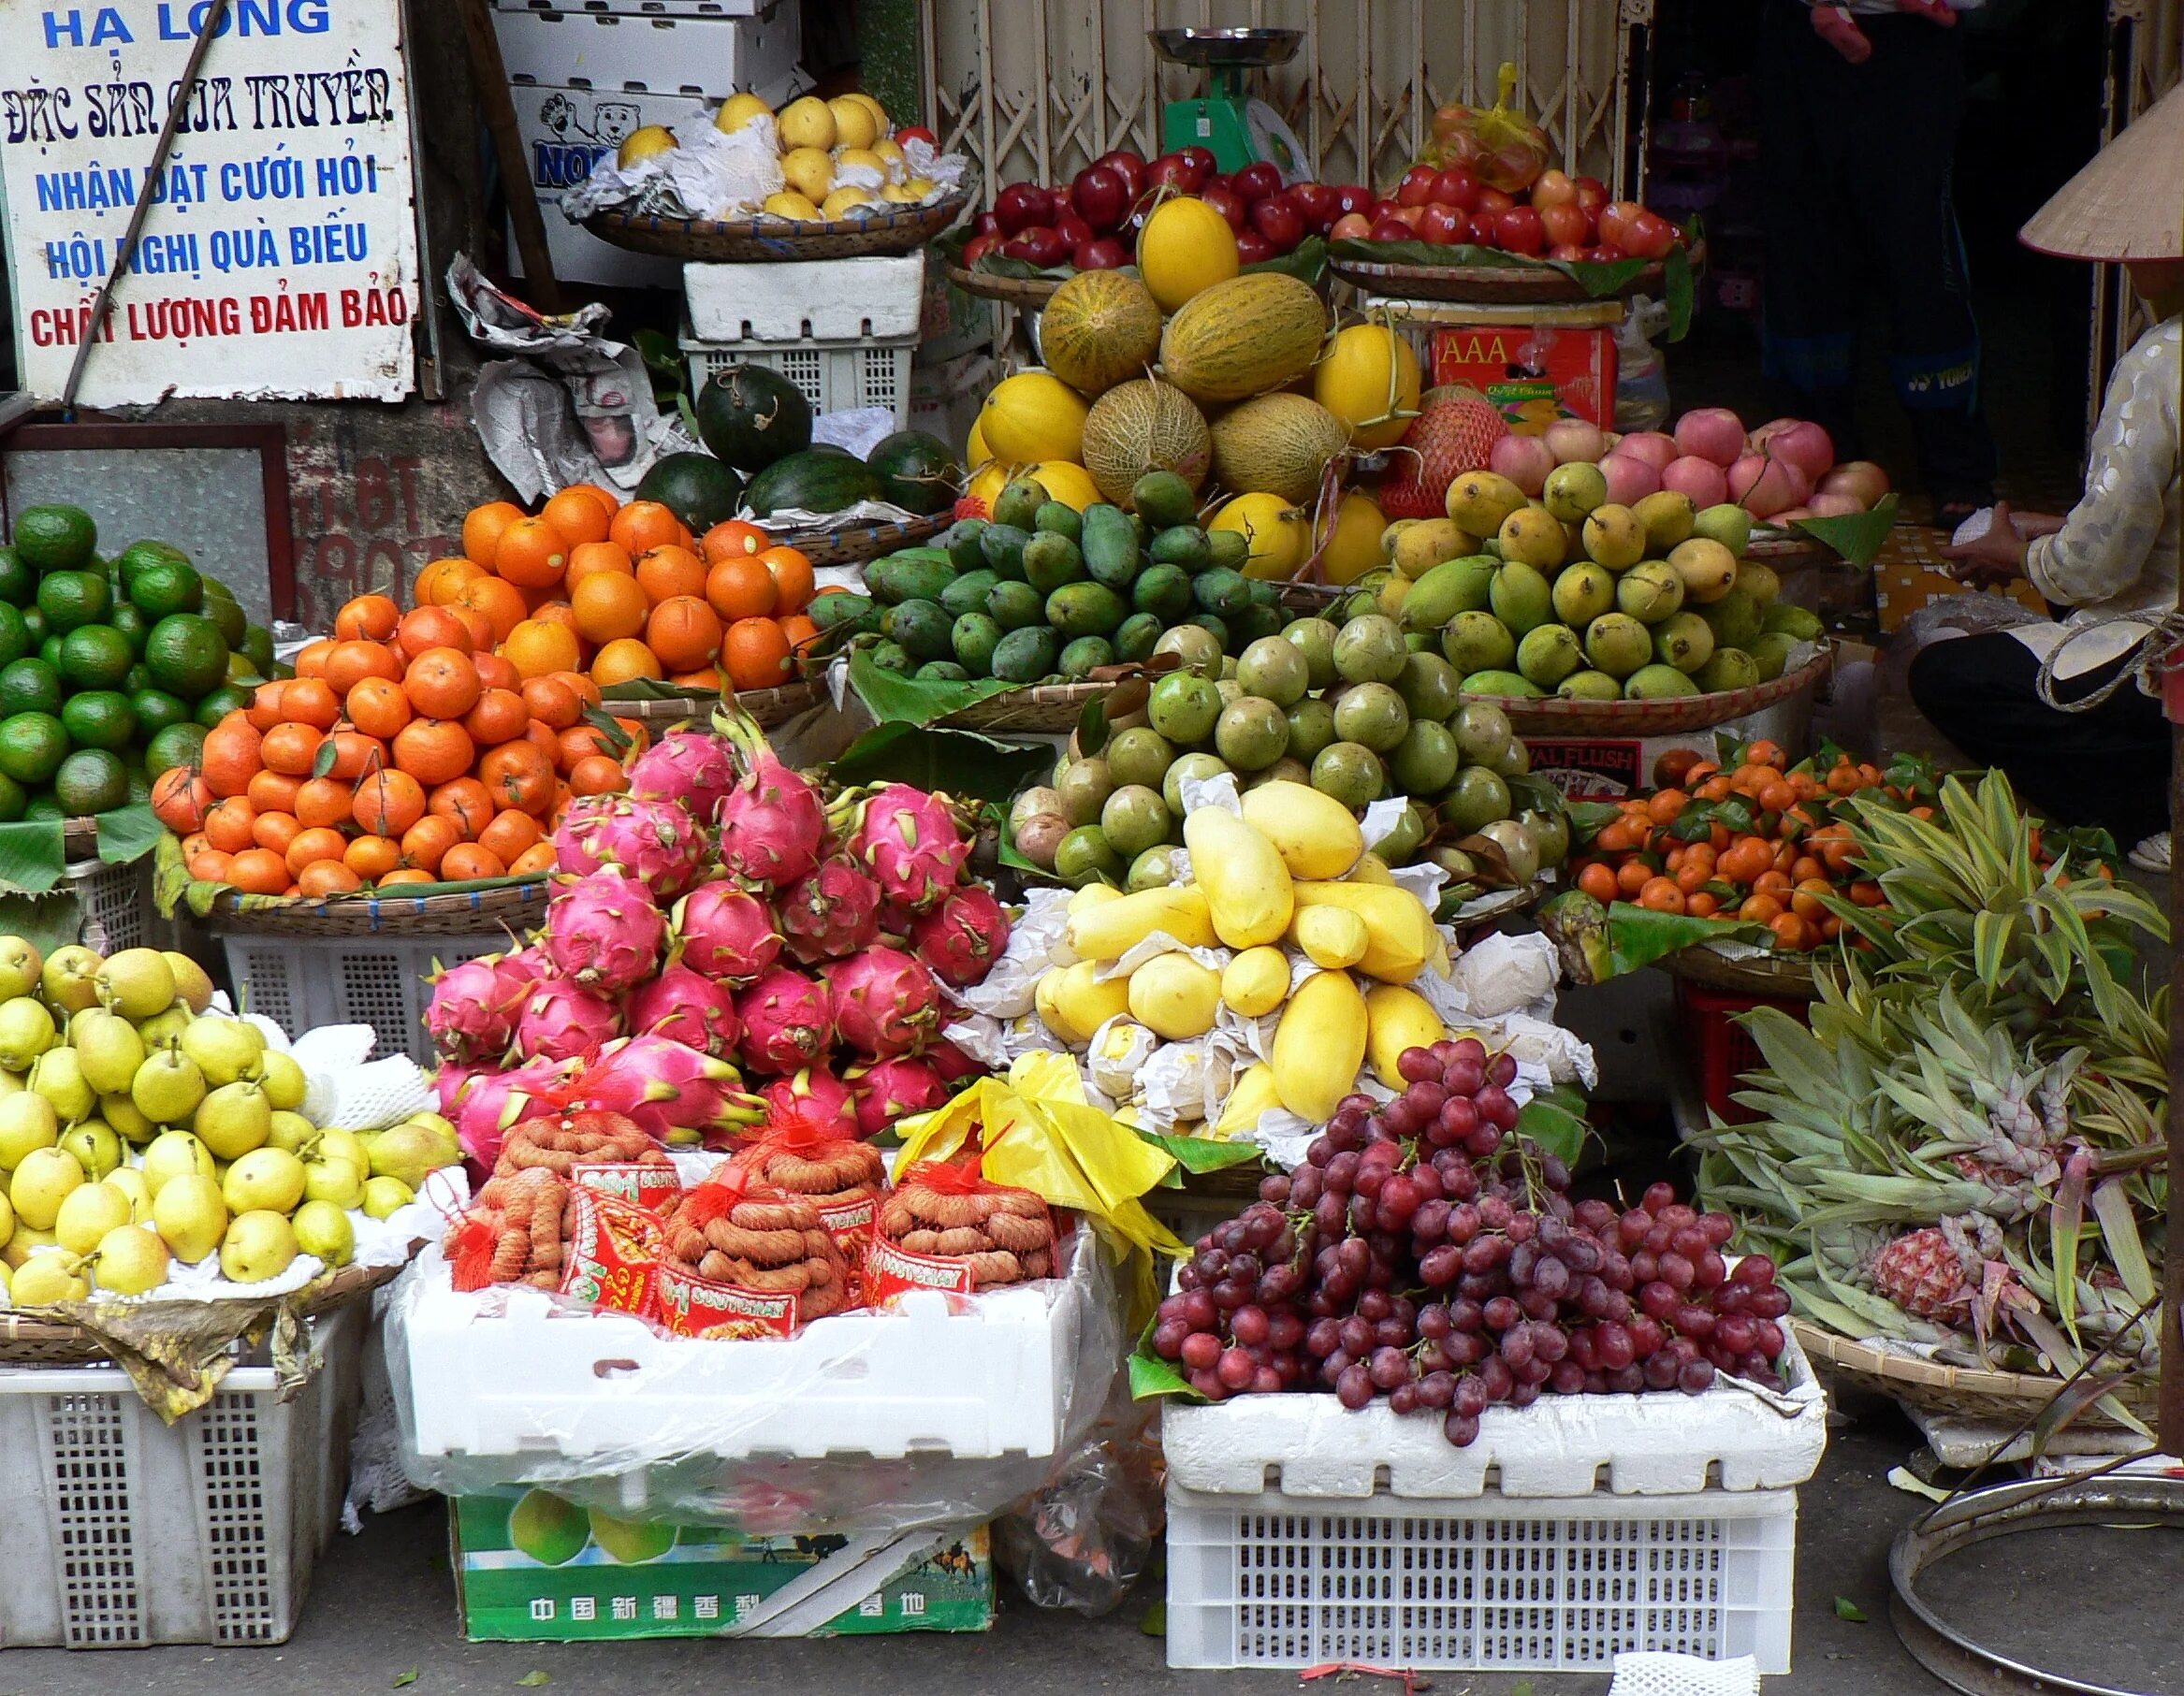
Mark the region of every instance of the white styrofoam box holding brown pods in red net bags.
POLYGON ((404 1327, 419 1454, 1044 1456, 1083 1325, 1077 1283, 1040 1283, 987 1290, 976 1312, 911 1292, 791 1338, 712 1342, 568 1314, 537 1290, 509 1290, 480 1321, 437 1249, 411 1277, 424 1281, 404 1327))

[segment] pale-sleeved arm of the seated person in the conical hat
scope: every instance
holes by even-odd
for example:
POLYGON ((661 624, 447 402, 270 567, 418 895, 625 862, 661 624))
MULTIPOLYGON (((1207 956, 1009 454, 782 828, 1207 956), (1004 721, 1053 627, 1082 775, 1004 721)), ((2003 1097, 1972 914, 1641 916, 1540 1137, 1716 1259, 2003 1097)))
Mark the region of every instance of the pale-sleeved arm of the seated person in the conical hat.
POLYGON ((2177 336, 2149 336, 2116 362, 2086 463, 2086 495, 2055 535, 2025 550, 2049 600, 2084 607, 2129 589, 2169 517, 2177 478, 2177 336))

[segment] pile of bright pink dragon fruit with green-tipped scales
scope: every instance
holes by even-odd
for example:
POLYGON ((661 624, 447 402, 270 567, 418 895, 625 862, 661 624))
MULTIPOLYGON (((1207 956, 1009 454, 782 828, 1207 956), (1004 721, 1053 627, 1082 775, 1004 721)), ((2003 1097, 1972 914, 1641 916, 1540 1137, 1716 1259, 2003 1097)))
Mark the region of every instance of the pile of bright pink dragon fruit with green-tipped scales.
POLYGON ((574 801, 546 928, 435 982, 441 1111, 485 1166, 509 1126, 572 1102, 668 1144, 786 1113, 869 1137, 981 1070, 941 1028, 1009 915, 970 880, 948 799, 828 797, 749 718, 719 725, 664 736, 625 795, 574 801))

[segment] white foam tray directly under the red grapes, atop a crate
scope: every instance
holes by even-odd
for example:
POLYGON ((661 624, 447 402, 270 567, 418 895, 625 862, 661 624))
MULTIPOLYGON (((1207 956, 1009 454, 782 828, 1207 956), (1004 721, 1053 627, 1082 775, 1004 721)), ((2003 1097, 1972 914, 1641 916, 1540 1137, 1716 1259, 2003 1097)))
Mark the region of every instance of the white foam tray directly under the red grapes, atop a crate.
POLYGON ((1828 1447, 1828 1397, 1791 1338, 1782 1410, 1732 1384, 1701 1395, 1542 1395, 1529 1408, 1487 1408, 1479 1441, 1455 1447, 1439 1414, 1350 1410, 1326 1393, 1238 1395, 1219 1406, 1168 1401, 1160 1447, 1168 1482, 1212 1495, 1280 1491, 1363 1500, 1693 1495, 1802 1484, 1828 1447))

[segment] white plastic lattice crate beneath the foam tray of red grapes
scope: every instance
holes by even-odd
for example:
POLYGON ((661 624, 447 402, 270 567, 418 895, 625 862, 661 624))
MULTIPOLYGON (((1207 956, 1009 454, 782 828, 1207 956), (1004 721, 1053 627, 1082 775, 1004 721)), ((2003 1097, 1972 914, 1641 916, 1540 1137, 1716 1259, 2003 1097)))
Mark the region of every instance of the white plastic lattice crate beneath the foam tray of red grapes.
POLYGON ((1789 1672, 1795 1491, 1199 1495, 1168 1486, 1168 1665, 1599 1672, 1625 1650, 1789 1672))

